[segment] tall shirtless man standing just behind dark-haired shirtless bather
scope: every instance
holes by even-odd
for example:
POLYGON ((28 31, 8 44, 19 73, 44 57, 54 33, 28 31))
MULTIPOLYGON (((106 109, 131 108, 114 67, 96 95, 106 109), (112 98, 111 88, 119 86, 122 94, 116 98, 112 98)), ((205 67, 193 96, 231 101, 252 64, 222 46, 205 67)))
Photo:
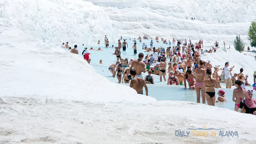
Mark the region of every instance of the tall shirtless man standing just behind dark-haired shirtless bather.
POLYGON ((134 67, 134 69, 137 71, 137 77, 141 77, 143 79, 143 77, 141 75, 141 71, 143 71, 143 73, 145 73, 145 72, 148 71, 148 69, 145 68, 146 65, 142 61, 143 57, 144 57, 144 54, 143 53, 139 53, 138 56, 139 56, 138 60, 133 60, 132 61, 132 65, 131 65, 129 71, 131 71, 132 68, 134 67))

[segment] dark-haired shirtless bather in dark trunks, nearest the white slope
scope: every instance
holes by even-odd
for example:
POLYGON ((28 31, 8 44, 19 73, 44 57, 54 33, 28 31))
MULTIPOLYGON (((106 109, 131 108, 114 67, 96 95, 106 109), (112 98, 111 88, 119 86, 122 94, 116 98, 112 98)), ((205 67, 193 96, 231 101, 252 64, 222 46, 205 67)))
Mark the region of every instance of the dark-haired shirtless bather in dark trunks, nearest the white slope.
POLYGON ((130 87, 136 90, 138 94, 143 95, 143 86, 145 87, 146 90, 146 95, 148 96, 148 87, 144 81, 143 78, 136 76, 136 70, 131 69, 130 74, 132 75, 132 80, 130 83, 130 87))

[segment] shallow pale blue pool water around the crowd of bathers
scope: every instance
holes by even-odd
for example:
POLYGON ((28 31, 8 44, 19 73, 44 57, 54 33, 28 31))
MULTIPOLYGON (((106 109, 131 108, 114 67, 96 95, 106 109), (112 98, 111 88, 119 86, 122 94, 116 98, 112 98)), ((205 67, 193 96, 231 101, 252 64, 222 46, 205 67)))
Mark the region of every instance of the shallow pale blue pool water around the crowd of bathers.
MULTIPOLYGON (((124 37, 129 39, 130 37, 124 37)), ((137 39, 136 39, 137 40, 137 39)), ((123 40, 121 40, 121 42, 123 42, 123 40)), ((133 55, 133 49, 132 49, 132 45, 133 42, 127 40, 126 41, 128 43, 128 48, 126 49, 126 52, 122 51, 121 48, 121 57, 122 59, 128 58, 128 60, 130 61, 130 59, 138 59, 138 56, 134 56, 133 55)), ((137 43, 139 42, 139 40, 137 40, 137 43)), ((150 40, 142 40, 142 43, 138 43, 137 44, 137 55, 142 52, 144 53, 144 55, 146 56, 146 54, 151 54, 152 52, 144 52, 144 50, 142 50, 142 44, 143 42, 146 45, 149 45, 150 40)), ((93 68, 95 68, 95 70, 97 71, 97 73, 99 73, 102 76, 105 76, 109 81, 114 82, 114 83, 118 83, 117 78, 113 78, 111 72, 108 70, 108 67, 116 62, 116 55, 112 55, 115 51, 115 46, 117 46, 117 43, 109 43, 110 47, 105 48, 104 46, 104 42, 103 44, 95 44, 93 46, 87 46, 88 49, 90 49, 91 47, 93 47, 94 49, 98 49, 99 47, 103 50, 103 51, 96 51, 96 50, 92 50, 91 54, 90 54, 90 58, 91 58, 91 65, 93 66, 93 68), (114 47, 111 47, 112 44, 114 45, 114 47), (99 61, 102 60, 103 64, 99 64, 99 61)), ((166 44, 163 43, 157 43, 154 45, 156 48, 163 46, 164 49, 167 48, 166 44)), ((84 50, 84 46, 78 46, 78 51, 79 51, 79 55, 82 56, 82 52, 84 50)), ((68 50, 67 50, 68 51, 68 50)), ((169 62, 170 59, 167 59, 167 62, 169 62)), ((144 73, 142 74, 143 77, 147 76, 148 73, 144 73)), ((184 86, 174 86, 174 85, 167 85, 167 82, 160 82, 159 76, 157 75, 152 75, 154 77, 154 82, 155 84, 147 84, 148 86, 148 96, 154 97, 156 98, 156 100, 185 100, 185 101, 191 101, 191 102, 196 102, 196 92, 195 90, 189 90, 189 89, 185 89, 184 86)), ((167 78, 167 76, 166 76, 167 78)), ((129 86, 129 84, 125 84, 127 86, 129 86)), ((187 83, 188 85, 188 83, 187 83)), ((222 87, 225 87, 225 84, 221 84, 222 87)), ((250 88, 250 87, 247 87, 250 88)), ((234 110, 235 107, 235 102, 232 101, 232 96, 233 96, 233 89, 226 89, 226 88, 219 88, 219 89, 215 89, 216 92, 216 100, 218 98, 217 92, 222 89, 224 90, 227 102, 220 102, 220 103, 215 103, 215 106, 220 107, 220 108, 228 108, 231 110, 234 110)), ((145 89, 143 90, 144 94, 145 93, 145 89)), ((202 99, 201 99, 201 103, 202 103, 202 99)))

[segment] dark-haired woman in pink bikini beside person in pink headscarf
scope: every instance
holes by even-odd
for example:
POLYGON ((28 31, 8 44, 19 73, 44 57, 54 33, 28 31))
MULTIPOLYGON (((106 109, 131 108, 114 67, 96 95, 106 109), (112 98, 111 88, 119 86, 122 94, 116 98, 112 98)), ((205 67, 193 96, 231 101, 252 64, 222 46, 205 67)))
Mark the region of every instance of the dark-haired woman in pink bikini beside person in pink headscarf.
POLYGON ((233 91, 233 99, 232 99, 236 103, 235 111, 238 111, 238 109, 240 107, 240 102, 242 100, 244 100, 244 97, 245 97, 246 90, 241 87, 242 83, 243 82, 241 82, 240 80, 235 81, 235 86, 237 88, 234 89, 234 91, 233 91), (235 100, 235 98, 236 98, 236 100, 235 100))

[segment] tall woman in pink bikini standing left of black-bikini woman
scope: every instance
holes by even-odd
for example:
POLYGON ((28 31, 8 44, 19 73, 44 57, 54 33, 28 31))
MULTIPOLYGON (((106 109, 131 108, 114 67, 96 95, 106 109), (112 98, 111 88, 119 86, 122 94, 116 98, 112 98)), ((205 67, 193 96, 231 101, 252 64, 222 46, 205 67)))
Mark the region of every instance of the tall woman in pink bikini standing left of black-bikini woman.
POLYGON ((200 91, 202 93, 202 101, 203 104, 205 104, 205 88, 203 88, 204 85, 204 79, 206 79, 206 73, 204 70, 205 67, 205 61, 204 60, 199 60, 199 67, 196 68, 195 70, 195 75, 196 75, 196 102, 200 103, 200 91))

